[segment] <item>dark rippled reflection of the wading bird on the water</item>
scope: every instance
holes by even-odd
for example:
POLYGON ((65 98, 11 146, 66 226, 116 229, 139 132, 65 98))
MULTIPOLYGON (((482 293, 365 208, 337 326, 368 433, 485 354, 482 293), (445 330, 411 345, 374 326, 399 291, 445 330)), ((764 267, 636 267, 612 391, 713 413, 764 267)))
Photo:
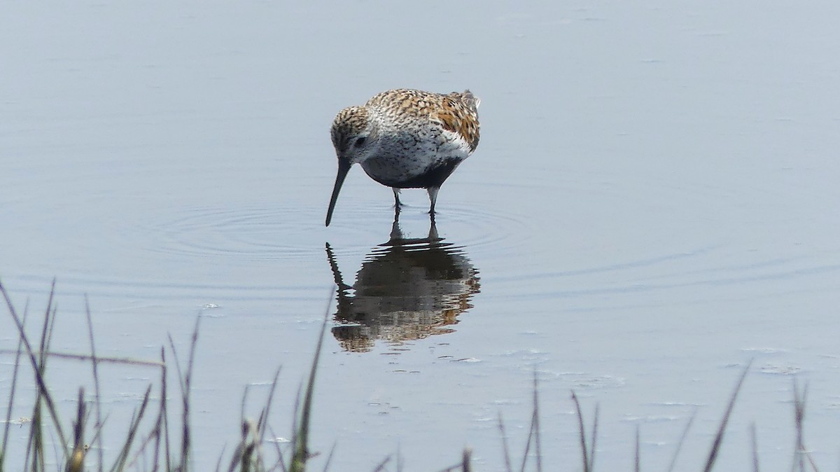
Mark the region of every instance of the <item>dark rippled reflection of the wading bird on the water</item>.
POLYGON ((479 292, 478 270, 463 248, 438 237, 434 218, 428 238, 405 238, 398 212, 391 239, 376 246, 362 263, 354 285, 339 271, 333 249, 327 257, 339 286, 333 336, 349 351, 373 349, 377 339, 392 346, 451 333, 449 325, 479 292))

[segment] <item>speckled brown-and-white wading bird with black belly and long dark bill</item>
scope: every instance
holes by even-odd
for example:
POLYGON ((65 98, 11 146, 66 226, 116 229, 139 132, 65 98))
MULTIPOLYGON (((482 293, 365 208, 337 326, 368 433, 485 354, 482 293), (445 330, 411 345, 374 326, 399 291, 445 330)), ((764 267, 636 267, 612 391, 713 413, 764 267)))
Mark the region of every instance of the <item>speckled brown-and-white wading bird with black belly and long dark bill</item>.
POLYGON ((364 106, 344 108, 333 121, 331 136, 339 157, 327 225, 351 165, 394 189, 428 189, 431 207, 438 189, 469 157, 479 141, 479 99, 469 90, 449 94, 396 89, 371 97, 364 106))

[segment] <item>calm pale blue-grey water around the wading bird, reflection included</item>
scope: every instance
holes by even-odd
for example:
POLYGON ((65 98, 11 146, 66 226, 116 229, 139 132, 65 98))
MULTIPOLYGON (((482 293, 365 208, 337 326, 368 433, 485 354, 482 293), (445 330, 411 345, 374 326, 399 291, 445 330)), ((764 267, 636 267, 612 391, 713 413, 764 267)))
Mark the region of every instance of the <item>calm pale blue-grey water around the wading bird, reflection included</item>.
MULTIPOLYGON (((200 314, 198 469, 278 366, 287 433, 325 310, 313 447, 337 443, 340 469, 397 448, 442 469, 464 446, 503 469, 496 417, 519 454, 535 371, 547 464, 578 460, 575 390, 601 405, 599 469, 630 467, 637 426, 663 469, 697 411, 695 467, 750 359, 722 462, 748 464, 755 421, 764 463, 788 464, 795 377, 808 445, 837 464, 837 3, 7 10, 0 277, 30 312, 57 279, 65 352, 87 352, 86 294, 102 355, 186 347, 200 314), (481 97, 475 155, 434 228, 424 191, 395 227, 358 168, 323 228, 334 113, 394 87, 481 97)), ((64 407, 87 375, 54 362, 64 407)), ((103 375, 120 425, 156 372, 103 375)))

